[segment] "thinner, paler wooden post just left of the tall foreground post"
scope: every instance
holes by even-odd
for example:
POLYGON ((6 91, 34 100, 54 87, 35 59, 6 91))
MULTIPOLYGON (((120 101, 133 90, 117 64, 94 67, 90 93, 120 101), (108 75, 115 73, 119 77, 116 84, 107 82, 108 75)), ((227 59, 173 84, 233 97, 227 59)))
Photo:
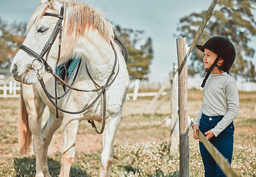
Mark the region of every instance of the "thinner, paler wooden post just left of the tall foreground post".
POLYGON ((178 153, 179 149, 179 114, 178 114, 178 63, 173 63, 173 76, 171 86, 171 145, 170 155, 178 153))

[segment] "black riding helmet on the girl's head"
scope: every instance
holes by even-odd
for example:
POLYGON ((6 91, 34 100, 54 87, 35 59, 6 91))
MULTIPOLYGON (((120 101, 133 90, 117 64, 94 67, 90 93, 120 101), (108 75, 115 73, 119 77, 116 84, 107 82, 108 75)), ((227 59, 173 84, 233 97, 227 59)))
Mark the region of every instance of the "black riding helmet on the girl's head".
POLYGON ((207 40, 204 45, 196 45, 196 47, 202 50, 202 52, 204 52, 204 49, 209 49, 218 54, 225 61, 227 66, 226 72, 230 70, 236 58, 234 45, 227 38, 221 36, 214 36, 207 40))

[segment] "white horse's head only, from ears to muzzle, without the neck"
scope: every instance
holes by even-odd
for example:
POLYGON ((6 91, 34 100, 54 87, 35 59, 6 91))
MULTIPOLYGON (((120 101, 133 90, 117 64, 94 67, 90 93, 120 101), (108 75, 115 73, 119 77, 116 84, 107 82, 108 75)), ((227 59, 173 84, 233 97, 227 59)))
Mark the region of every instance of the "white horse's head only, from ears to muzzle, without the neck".
MULTIPOLYGON (((45 43, 49 42, 49 38, 52 36, 52 31, 56 27, 56 23, 59 20, 58 17, 52 17, 51 15, 45 15, 47 13, 60 14, 61 4, 56 0, 41 0, 41 5, 36 8, 35 12, 31 16, 27 26, 27 36, 24 40, 23 46, 29 48, 29 50, 35 51, 40 55, 45 46, 45 43)), ((44 58, 47 54, 44 55, 44 58)), ((13 58, 11 72, 13 78, 19 82, 26 84, 36 83, 36 72, 33 68, 41 68, 42 63, 39 62, 35 54, 31 52, 25 52, 19 50, 13 58)), ((56 42, 53 43, 49 52, 49 58, 58 58, 58 37, 56 42)), ((54 60, 53 60, 54 61, 54 60)), ((54 65, 53 65, 54 66, 54 65)))

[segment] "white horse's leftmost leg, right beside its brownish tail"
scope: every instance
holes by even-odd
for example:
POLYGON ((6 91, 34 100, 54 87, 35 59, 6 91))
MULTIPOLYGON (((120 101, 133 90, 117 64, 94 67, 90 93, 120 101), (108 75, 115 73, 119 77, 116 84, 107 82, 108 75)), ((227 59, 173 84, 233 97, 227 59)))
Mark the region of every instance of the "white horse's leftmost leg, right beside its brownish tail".
POLYGON ((36 157, 36 177, 44 177, 42 156, 44 142, 41 137, 42 114, 45 104, 33 85, 22 85, 22 95, 28 112, 29 128, 33 135, 33 150, 36 157))

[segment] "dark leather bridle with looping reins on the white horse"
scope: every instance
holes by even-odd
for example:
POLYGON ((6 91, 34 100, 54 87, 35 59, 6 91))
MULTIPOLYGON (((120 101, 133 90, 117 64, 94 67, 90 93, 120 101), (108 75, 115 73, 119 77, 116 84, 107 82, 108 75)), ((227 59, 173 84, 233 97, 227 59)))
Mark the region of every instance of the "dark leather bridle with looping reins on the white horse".
MULTIPOLYGON (((104 127, 105 127, 105 123, 106 123, 106 88, 108 88, 112 83, 113 81, 115 81, 116 79, 116 76, 119 72, 119 61, 118 61, 118 57, 117 57, 117 54, 116 54, 116 50, 115 50, 115 47, 113 45, 113 42, 110 41, 111 43, 111 47, 113 49, 113 52, 115 54, 115 62, 114 62, 114 65, 113 65, 113 69, 111 71, 111 73, 109 74, 109 77, 106 81, 106 83, 103 85, 103 86, 100 86, 100 84, 98 84, 92 77, 92 75, 90 74, 89 70, 88 70, 88 66, 86 65, 86 71, 88 73, 88 76, 90 77, 90 79, 93 81, 93 83, 97 86, 96 89, 90 89, 90 90, 85 90, 85 89, 78 89, 78 88, 74 88, 72 85, 74 84, 74 81, 76 79, 76 76, 77 76, 77 73, 78 73, 78 70, 79 70, 79 67, 81 65, 81 59, 79 61, 79 64, 77 66, 77 71, 76 71, 76 74, 75 74, 75 77, 74 77, 74 80, 72 81, 72 84, 68 84, 67 82, 63 81, 63 79, 61 79, 57 74, 56 72, 54 72, 51 68, 51 66, 49 66, 49 64, 47 63, 47 58, 48 58, 48 55, 49 55, 49 52, 51 50, 51 47, 54 43, 54 41, 56 40, 56 37, 58 36, 58 34, 60 33, 59 35, 59 50, 58 50, 58 60, 57 60, 57 63, 56 65, 58 65, 58 61, 60 60, 60 50, 61 50, 61 38, 62 38, 62 31, 63 31, 63 26, 62 26, 62 20, 63 20, 63 6, 61 6, 61 11, 60 11, 60 15, 56 14, 56 13, 45 13, 44 16, 51 16, 51 17, 56 17, 58 18, 58 21, 56 22, 56 26, 54 27, 54 30, 52 31, 52 34, 49 38, 49 40, 47 41, 47 43, 45 43, 44 45, 44 48, 42 49, 42 52, 40 54, 38 54, 37 52, 35 52, 34 50, 30 49, 29 47, 26 47, 26 45, 20 45, 20 49, 24 50, 24 52, 28 53, 29 55, 33 56, 35 59, 34 61, 32 62, 32 65, 31 66, 28 66, 27 67, 27 70, 25 73, 29 72, 30 70, 34 70, 36 72, 36 75, 37 75, 37 79, 38 81, 40 82, 41 86, 42 86, 42 89, 44 90, 45 92, 45 95, 47 96, 47 98, 49 98, 50 102, 52 103, 52 105, 54 105, 54 107, 56 107, 56 118, 58 118, 58 110, 59 111, 62 111, 62 112, 65 112, 67 114, 80 114, 88 109, 90 109, 90 107, 92 107, 93 104, 95 104, 95 102, 97 102, 97 100, 99 100, 100 96, 102 95, 103 96, 103 116, 102 116, 102 127, 101 127, 101 130, 100 132, 97 130, 97 127, 95 126, 95 123, 93 121, 90 121, 88 120, 89 123, 92 124, 92 127, 93 127, 93 130, 97 133, 97 134, 102 134, 102 132, 104 131, 104 127), (46 57, 44 59, 44 56, 46 54, 46 57), (41 68, 35 68, 33 66, 33 63, 35 61, 40 61, 40 63, 42 64, 42 67, 41 68), (115 68, 116 68, 116 65, 118 65, 118 69, 115 73, 115 68), (45 88, 45 83, 44 83, 44 79, 42 76, 40 76, 40 70, 42 70, 42 68, 45 68, 45 70, 48 72, 48 73, 51 73, 54 77, 55 77, 55 96, 52 96, 48 91, 47 89, 45 88), (115 75, 115 77, 113 77, 113 75, 115 75), (113 79, 111 80, 111 78, 113 77, 113 79), (65 93, 62 95, 62 96, 57 96, 57 89, 56 89, 56 81, 59 81, 61 82, 61 84, 65 85, 68 87, 68 90, 65 91, 65 93), (76 112, 71 112, 71 111, 67 111, 67 110, 64 110, 64 109, 61 109, 58 104, 57 104, 57 100, 60 99, 60 98, 63 98, 63 96, 65 96, 67 94, 68 91, 70 91, 70 89, 73 89, 75 91, 84 91, 84 92, 95 92, 95 91, 100 91, 100 93, 97 95, 97 97, 93 100, 93 102, 88 105, 87 107, 85 107, 84 109, 82 109, 81 111, 76 111, 76 112), (54 99, 55 102, 52 100, 54 99)), ((116 38, 116 37, 115 37, 116 38)), ((120 41, 118 40, 118 45, 120 45, 120 41)), ((121 45, 122 45, 122 42, 121 42, 121 45)), ((127 55, 127 53, 125 53, 127 55)))

